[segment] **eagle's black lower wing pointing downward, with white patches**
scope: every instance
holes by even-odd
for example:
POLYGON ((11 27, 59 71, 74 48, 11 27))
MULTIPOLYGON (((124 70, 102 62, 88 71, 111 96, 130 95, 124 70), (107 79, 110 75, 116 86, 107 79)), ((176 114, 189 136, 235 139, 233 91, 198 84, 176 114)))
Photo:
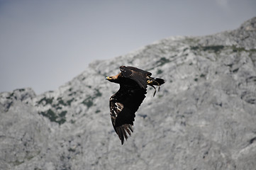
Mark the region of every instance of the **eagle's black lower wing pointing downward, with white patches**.
POLYGON ((133 132, 135 112, 138 111, 146 93, 146 89, 142 89, 140 86, 130 87, 121 84, 118 92, 110 98, 112 125, 122 145, 124 138, 127 140, 127 133, 131 135, 131 132, 133 132))

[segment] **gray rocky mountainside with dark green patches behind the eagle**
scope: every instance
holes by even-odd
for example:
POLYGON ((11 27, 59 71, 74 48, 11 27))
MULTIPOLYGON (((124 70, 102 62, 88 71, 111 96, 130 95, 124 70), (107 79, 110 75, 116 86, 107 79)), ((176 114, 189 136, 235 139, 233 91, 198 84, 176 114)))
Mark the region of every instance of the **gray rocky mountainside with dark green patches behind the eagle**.
POLYGON ((256 18, 237 30, 174 37, 112 60, 36 96, 0 94, 0 169, 255 169, 256 18), (132 65, 166 83, 148 88, 122 146, 105 81, 132 65))

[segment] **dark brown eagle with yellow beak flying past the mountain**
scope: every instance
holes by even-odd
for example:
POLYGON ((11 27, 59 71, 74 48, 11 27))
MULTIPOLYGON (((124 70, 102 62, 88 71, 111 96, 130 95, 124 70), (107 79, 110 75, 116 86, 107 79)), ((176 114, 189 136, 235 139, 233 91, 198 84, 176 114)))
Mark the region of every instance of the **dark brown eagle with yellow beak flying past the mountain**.
POLYGON ((123 145, 124 138, 127 140, 127 133, 131 135, 133 132, 135 112, 138 111, 147 94, 147 85, 154 89, 158 86, 159 91, 160 85, 164 84, 165 80, 150 77, 150 72, 135 67, 121 66, 120 70, 121 72, 116 76, 106 79, 120 84, 120 89, 109 100, 109 107, 113 128, 123 145))

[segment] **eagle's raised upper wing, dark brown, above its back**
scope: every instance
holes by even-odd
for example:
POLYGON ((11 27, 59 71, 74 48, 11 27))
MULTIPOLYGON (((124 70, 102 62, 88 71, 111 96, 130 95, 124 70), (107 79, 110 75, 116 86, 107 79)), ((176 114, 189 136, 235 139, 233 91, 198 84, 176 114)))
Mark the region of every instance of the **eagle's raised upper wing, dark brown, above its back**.
POLYGON ((123 77, 133 79, 143 89, 147 88, 147 85, 148 85, 147 77, 151 76, 150 72, 146 72, 142 69, 138 69, 138 68, 130 67, 130 66, 121 66, 120 70, 121 70, 121 73, 123 74, 123 77))

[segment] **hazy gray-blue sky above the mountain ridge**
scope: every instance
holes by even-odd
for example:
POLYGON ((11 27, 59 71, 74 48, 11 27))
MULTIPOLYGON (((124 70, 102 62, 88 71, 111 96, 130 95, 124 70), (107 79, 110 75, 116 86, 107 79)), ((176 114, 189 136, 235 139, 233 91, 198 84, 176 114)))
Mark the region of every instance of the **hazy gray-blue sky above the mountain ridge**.
POLYGON ((94 60, 254 16, 255 0, 0 0, 0 92, 56 90, 94 60))

